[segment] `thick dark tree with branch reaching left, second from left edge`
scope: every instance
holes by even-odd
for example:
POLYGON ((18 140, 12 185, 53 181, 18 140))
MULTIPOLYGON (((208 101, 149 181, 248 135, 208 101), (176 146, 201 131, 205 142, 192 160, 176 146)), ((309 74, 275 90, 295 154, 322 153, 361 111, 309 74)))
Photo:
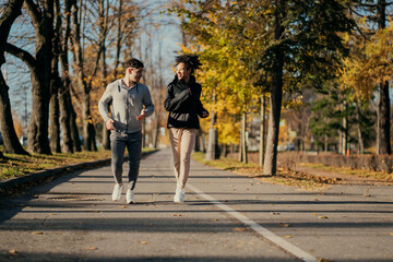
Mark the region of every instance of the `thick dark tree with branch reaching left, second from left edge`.
POLYGON ((25 0, 26 9, 35 28, 35 56, 12 44, 5 44, 5 51, 20 58, 31 71, 33 108, 28 124, 28 151, 51 154, 48 140, 49 96, 51 81, 53 2, 25 0))

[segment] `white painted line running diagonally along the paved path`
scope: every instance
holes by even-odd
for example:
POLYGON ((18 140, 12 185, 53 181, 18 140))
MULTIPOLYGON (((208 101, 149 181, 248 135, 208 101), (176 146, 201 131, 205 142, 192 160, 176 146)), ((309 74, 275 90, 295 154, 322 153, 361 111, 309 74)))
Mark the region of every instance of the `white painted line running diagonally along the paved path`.
POLYGON ((214 203, 216 206, 218 206, 223 211, 228 212, 229 215, 231 215, 236 219, 245 223, 247 226, 251 227, 255 233, 260 234, 262 237, 266 238, 271 242, 277 245, 278 247, 286 250, 287 252, 294 254, 295 257, 301 259, 302 261, 306 261, 306 262, 317 262, 318 261, 318 259, 314 258, 313 255, 307 253, 306 251, 303 251, 303 250, 299 249, 298 247, 291 245, 290 242, 286 241, 285 239, 278 237, 274 233, 272 233, 272 231, 267 230, 266 228, 260 226, 258 223, 251 221, 250 218, 248 218, 247 216, 245 216, 245 215, 240 214, 239 212, 235 211, 230 206, 228 206, 226 204, 223 204, 222 202, 219 202, 218 200, 214 199, 213 196, 206 194, 205 192, 203 192, 199 188, 196 188, 196 187, 194 187, 194 186, 192 186, 190 183, 188 183, 186 187, 191 189, 192 191, 196 192, 202 198, 204 198, 204 199, 209 200, 210 202, 214 203))

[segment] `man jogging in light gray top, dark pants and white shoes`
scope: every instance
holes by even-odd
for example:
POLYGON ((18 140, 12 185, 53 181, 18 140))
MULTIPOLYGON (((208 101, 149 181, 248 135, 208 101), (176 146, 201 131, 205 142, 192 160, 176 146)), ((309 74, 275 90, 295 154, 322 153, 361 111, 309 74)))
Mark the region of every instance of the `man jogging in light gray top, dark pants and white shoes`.
POLYGON ((123 190, 122 165, 126 147, 129 153, 129 183, 126 193, 128 204, 135 202, 133 190, 142 156, 142 120, 154 111, 148 87, 139 82, 143 68, 143 63, 138 59, 129 60, 126 76, 108 84, 98 102, 99 114, 106 128, 110 130, 111 170, 116 182, 114 201, 120 200, 123 190))

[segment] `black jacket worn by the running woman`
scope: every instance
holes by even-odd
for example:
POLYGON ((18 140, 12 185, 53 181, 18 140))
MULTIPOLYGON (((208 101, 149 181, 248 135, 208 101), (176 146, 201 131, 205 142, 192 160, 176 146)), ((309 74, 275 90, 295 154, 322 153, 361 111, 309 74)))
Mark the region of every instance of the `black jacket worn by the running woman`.
POLYGON ((193 75, 188 83, 175 76, 168 84, 164 100, 165 110, 169 111, 167 128, 200 128, 198 116, 202 117, 204 111, 209 114, 202 106, 201 92, 202 87, 193 75))

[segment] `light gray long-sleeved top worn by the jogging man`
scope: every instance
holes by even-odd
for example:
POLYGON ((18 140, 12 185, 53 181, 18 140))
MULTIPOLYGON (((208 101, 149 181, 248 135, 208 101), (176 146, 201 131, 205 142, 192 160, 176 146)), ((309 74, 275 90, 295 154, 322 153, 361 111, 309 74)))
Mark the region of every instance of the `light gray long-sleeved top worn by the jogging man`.
POLYGON ((154 105, 148 87, 136 83, 132 87, 127 87, 121 79, 110 84, 105 90, 104 95, 98 102, 98 110, 104 121, 114 119, 114 127, 118 132, 134 133, 142 130, 142 121, 136 120, 145 106, 146 117, 154 111, 154 105), (111 106, 111 116, 108 107, 111 106))

